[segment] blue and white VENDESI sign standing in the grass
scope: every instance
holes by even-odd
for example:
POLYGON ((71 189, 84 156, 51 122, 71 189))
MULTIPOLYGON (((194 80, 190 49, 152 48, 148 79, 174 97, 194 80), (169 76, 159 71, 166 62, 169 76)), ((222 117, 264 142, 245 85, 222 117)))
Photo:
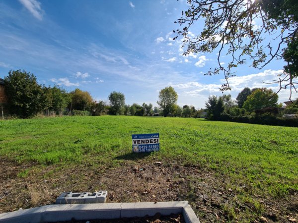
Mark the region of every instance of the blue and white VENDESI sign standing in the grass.
POLYGON ((159 133, 133 134, 133 152, 146 153, 159 151, 159 133))

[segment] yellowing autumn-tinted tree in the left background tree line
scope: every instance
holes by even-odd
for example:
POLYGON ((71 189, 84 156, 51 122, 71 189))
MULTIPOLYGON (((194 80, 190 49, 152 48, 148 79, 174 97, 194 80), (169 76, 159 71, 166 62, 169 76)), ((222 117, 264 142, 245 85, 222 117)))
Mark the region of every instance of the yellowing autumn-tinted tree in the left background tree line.
POLYGON ((90 111, 93 99, 89 92, 76 88, 71 93, 71 110, 90 111))

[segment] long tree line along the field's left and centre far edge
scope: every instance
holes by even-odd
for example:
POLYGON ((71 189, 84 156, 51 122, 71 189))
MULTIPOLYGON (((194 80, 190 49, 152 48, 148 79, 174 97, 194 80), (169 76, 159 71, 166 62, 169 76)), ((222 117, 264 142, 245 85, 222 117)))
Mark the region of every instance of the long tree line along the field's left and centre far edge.
POLYGON ((8 76, 4 77, 4 85, 9 114, 20 118, 37 114, 199 117, 203 111, 197 111, 194 106, 178 106, 178 95, 172 87, 166 87, 159 92, 159 107, 153 108, 151 103, 127 105, 121 92, 111 92, 108 102, 105 102, 93 100, 89 92, 78 88, 67 92, 58 85, 40 85, 34 74, 25 70, 10 70, 8 76))

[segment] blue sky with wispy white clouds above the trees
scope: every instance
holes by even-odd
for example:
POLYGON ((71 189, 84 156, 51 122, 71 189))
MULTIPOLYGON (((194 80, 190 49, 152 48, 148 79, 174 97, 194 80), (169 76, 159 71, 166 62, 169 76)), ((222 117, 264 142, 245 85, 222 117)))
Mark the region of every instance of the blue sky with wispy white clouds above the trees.
MULTIPOLYGON (((223 95, 224 77, 204 75, 217 65, 217 52, 183 56, 183 38, 173 41, 174 21, 187 6, 186 0, 1 0, 0 77, 26 70, 40 84, 79 88, 96 101, 121 92, 130 105, 157 106, 159 91, 172 86, 179 106, 205 108, 210 95, 223 95)), ((198 22, 189 35, 202 28, 198 22)), ((264 82, 282 73, 283 61, 249 65, 235 68, 232 90, 224 94, 235 99, 244 87, 278 90, 264 82)), ((281 91, 279 102, 289 96, 281 91)))

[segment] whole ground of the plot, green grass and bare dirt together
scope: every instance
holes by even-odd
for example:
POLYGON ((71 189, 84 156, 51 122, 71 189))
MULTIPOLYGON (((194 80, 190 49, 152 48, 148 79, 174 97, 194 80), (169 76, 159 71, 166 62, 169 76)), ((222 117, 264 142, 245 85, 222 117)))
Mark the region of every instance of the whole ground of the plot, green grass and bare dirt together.
POLYGON ((0 121, 0 212, 106 189, 108 202, 188 200, 201 222, 291 222, 297 135, 293 127, 195 118, 0 121), (132 153, 132 134, 156 132, 159 152, 132 153))

